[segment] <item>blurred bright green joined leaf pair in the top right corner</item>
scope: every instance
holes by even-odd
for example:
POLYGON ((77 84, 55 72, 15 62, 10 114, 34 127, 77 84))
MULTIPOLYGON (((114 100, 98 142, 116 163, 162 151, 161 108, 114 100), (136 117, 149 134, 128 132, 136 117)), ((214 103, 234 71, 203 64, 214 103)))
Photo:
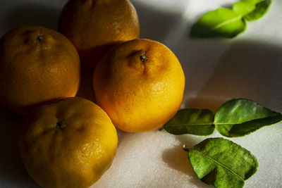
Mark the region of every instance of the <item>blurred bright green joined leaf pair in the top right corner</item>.
POLYGON ((271 0, 242 0, 231 8, 219 8, 202 15, 193 25, 192 37, 235 37, 247 27, 246 20, 257 20, 268 11, 271 0))

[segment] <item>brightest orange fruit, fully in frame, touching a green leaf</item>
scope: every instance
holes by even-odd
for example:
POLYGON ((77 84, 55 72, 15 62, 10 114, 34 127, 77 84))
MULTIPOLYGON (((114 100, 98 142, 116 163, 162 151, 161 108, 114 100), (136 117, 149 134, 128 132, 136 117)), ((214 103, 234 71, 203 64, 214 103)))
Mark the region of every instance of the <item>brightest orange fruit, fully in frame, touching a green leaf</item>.
POLYGON ((94 93, 114 125, 125 132, 157 129, 176 114, 185 77, 178 58, 159 42, 119 44, 94 70, 94 93))

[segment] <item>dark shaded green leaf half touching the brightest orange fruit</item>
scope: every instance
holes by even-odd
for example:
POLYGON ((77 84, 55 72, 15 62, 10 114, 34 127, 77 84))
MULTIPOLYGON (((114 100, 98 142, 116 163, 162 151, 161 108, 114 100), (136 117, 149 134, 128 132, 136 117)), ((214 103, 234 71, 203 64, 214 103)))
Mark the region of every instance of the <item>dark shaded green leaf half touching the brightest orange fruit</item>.
POLYGON ((164 125, 171 134, 210 135, 214 132, 214 113, 207 109, 183 109, 164 125))

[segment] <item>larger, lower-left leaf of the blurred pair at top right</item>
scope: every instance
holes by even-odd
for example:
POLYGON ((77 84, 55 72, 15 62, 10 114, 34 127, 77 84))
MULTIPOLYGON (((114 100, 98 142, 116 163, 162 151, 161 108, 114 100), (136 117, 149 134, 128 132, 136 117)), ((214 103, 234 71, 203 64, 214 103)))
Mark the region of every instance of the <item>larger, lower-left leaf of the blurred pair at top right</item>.
POLYGON ((192 37, 235 37, 245 31, 246 23, 242 16, 228 8, 219 8, 202 15, 193 25, 192 37))

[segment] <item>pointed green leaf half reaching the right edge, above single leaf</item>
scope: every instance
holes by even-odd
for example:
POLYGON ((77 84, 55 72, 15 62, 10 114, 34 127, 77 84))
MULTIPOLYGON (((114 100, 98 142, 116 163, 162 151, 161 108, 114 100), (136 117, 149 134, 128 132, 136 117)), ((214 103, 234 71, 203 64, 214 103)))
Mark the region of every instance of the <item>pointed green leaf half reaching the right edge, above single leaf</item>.
POLYGON ((216 112, 214 124, 223 136, 242 137, 281 120, 281 113, 264 108, 255 101, 232 99, 216 112))

